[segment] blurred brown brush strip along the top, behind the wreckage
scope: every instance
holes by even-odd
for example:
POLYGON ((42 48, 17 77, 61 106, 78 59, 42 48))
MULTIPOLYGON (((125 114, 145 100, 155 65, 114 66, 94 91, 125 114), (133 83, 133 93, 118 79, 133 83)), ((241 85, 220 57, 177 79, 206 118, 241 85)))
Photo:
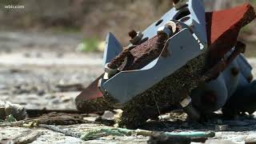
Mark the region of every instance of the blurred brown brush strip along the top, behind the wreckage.
MULTIPOLYGON (((255 0, 204 0, 206 10, 220 10, 255 0)), ((126 45, 130 30, 143 30, 157 21, 172 6, 171 0, 2 0, 2 5, 22 5, 24 9, 2 9, 2 30, 22 30, 38 33, 81 34, 83 51, 97 51, 94 46, 104 41, 108 32, 126 45)), ((247 26, 241 34, 247 44, 254 44, 255 24, 247 26)), ((80 45, 81 46, 81 45, 80 45)), ((251 46, 249 46, 251 47, 251 46)), ((81 47, 80 47, 81 48, 81 47)), ((100 50, 100 49, 99 49, 100 50)), ((253 56, 255 53, 247 53, 253 56)))

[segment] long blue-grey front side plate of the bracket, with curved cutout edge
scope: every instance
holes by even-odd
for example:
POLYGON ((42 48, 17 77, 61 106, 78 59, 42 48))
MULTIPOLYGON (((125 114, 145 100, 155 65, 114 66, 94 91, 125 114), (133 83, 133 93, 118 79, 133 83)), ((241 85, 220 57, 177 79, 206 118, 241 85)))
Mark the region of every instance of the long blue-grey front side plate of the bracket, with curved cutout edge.
POLYGON ((122 71, 104 82, 103 89, 119 102, 128 102, 203 52, 187 28, 168 39, 167 43, 170 56, 164 58, 161 54, 147 69, 122 71))

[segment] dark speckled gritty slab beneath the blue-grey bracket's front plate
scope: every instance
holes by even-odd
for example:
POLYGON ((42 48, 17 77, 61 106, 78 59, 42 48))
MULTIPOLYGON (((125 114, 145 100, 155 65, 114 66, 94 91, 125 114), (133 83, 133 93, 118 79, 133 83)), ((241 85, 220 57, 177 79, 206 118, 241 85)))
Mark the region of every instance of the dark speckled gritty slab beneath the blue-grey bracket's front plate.
POLYGON ((186 98, 190 90, 200 83, 205 58, 206 55, 202 54, 192 59, 181 69, 126 102, 119 126, 134 129, 146 122, 148 118, 158 116, 158 110, 162 113, 164 106, 170 106, 171 109, 171 106, 177 105, 186 98), (181 94, 182 91, 184 91, 183 94, 181 94))

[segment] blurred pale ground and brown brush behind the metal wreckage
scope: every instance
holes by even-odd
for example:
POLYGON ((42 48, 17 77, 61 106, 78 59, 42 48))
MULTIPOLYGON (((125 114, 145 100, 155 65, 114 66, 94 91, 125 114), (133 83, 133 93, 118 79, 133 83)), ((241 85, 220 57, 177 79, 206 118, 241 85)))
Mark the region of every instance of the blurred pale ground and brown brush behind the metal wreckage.
MULTIPOLYGON (((207 11, 243 2, 256 6, 256 0, 204 2, 207 11)), ((74 97, 102 73, 106 34, 114 33, 126 46, 130 30, 144 30, 170 10, 172 2, 0 0, 0 6, 0 100, 26 108, 74 109, 74 97), (7 5, 24 8, 4 8, 7 5)), ((246 26, 239 38, 247 44, 248 58, 256 56, 255 26, 246 26)))

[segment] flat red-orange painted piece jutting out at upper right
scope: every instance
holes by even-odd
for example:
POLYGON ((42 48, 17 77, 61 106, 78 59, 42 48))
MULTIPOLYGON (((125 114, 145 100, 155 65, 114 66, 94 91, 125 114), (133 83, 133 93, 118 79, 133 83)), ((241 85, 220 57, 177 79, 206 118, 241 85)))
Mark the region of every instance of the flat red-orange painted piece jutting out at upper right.
POLYGON ((222 58, 235 46, 239 31, 255 18, 249 4, 206 13, 207 38, 212 58, 222 58))

